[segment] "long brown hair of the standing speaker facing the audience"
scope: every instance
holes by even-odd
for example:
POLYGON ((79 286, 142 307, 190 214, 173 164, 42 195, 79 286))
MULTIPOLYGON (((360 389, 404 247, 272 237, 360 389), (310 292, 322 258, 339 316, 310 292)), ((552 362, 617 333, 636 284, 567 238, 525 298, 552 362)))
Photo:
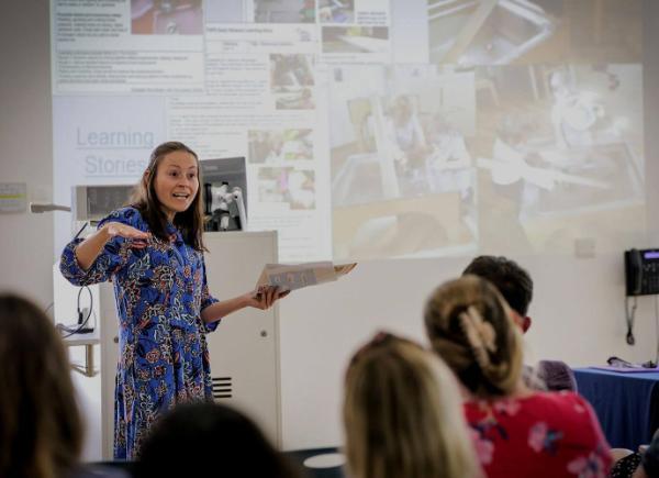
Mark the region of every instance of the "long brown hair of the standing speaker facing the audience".
POLYGON ((160 163, 169 153, 182 151, 191 154, 197 162, 197 178, 199 188, 190 207, 183 212, 178 212, 174 216, 174 225, 177 226, 183 236, 183 241, 197 251, 205 251, 203 245, 203 181, 201 179, 201 167, 197 153, 177 141, 163 143, 152 152, 146 171, 139 182, 135 186, 131 203, 139 211, 142 218, 148 224, 148 227, 156 237, 163 241, 169 241, 167 235, 167 216, 163 211, 163 204, 158 200, 155 189, 155 180, 158 174, 160 163))

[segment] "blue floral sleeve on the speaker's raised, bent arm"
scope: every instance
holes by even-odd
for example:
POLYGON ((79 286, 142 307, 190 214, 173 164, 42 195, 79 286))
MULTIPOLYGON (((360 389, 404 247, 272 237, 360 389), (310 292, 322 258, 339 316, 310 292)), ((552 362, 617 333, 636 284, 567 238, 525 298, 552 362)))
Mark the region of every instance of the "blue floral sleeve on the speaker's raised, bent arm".
MULTIPOLYGON (((99 223, 98 229, 101 229, 108 222, 121 222, 144 230, 139 214, 132 208, 112 212, 99 223)), ((90 286, 109 280, 113 274, 126 265, 131 256, 130 244, 126 240, 124 237, 113 237, 103 246, 89 269, 85 270, 76 257, 76 247, 81 242, 81 238, 76 238, 68 243, 59 259, 62 275, 74 286, 90 286)))

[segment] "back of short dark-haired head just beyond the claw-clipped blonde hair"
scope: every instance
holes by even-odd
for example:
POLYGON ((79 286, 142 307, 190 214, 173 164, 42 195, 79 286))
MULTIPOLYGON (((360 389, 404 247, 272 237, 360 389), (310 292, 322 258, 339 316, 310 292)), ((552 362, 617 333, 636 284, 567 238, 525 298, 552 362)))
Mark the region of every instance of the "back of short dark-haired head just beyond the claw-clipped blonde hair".
POLYGON ((533 280, 517 263, 503 256, 479 256, 462 271, 466 275, 492 282, 515 312, 526 315, 533 299, 533 280))

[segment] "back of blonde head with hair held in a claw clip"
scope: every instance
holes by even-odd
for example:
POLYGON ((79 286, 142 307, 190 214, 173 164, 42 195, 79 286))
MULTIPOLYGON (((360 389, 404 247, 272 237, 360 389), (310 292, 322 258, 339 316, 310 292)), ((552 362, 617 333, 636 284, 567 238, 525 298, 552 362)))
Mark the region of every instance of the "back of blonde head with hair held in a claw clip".
POLYGON ((433 349, 473 396, 513 392, 522 374, 522 338, 489 281, 465 276, 437 288, 426 303, 425 327, 433 349))

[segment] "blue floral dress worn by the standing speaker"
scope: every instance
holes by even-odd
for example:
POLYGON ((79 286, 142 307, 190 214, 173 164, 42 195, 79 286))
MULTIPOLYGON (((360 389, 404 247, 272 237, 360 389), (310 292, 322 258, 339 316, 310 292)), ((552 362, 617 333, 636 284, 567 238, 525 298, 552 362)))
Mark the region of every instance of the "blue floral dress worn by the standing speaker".
MULTIPOLYGON (((114 221, 148 232, 135 208, 112 212, 114 221)), ((119 312, 120 354, 114 402, 114 457, 135 459, 155 420, 179 402, 211 400, 212 382, 200 312, 217 300, 210 296, 203 255, 167 226, 169 241, 155 236, 145 248, 114 237, 88 270, 71 241, 60 260, 62 274, 76 286, 111 280, 119 312)))

